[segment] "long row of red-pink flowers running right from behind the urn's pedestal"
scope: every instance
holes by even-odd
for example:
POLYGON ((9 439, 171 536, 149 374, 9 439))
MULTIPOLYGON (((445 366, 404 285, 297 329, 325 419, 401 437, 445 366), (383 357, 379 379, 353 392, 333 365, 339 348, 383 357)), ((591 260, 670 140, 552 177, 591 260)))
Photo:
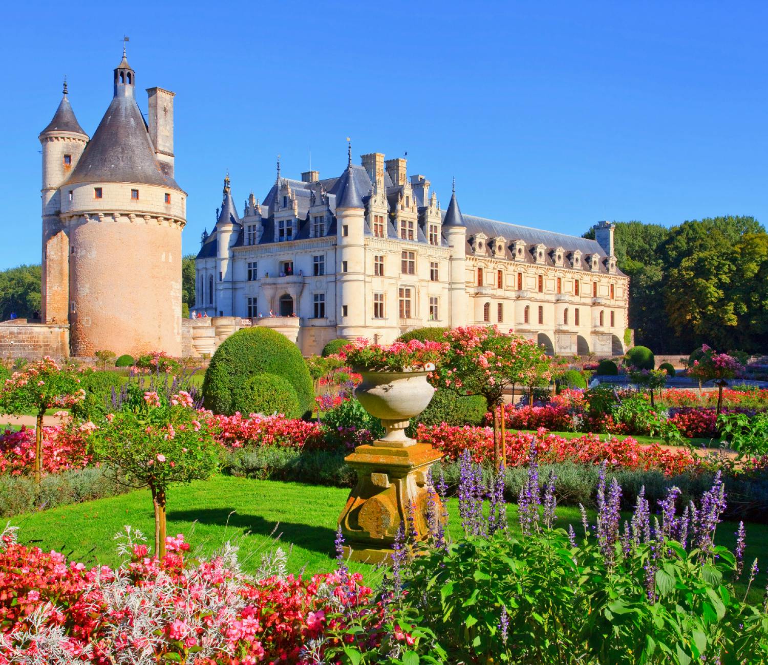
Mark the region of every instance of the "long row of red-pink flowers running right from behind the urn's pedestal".
MULTIPOLYGON (((465 451, 476 463, 490 461, 493 454, 493 430, 490 427, 451 427, 419 425, 419 441, 431 443, 444 453, 446 459, 459 459, 465 451)), ((686 449, 667 450, 660 446, 643 446, 635 439, 616 437, 601 439, 585 434, 573 439, 552 434, 545 429, 537 433, 508 433, 505 439, 507 465, 524 466, 535 449, 538 459, 545 463, 574 462, 582 464, 608 463, 622 469, 655 469, 667 476, 695 469, 699 458, 686 449)))

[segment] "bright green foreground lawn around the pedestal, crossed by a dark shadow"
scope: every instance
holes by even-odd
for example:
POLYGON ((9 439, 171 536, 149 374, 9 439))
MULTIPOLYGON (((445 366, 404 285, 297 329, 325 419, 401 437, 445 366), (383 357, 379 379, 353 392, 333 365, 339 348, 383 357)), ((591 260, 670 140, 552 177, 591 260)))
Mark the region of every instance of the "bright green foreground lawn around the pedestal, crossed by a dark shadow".
MULTIPOLYGON (((346 489, 300 485, 215 476, 187 486, 174 486, 169 493, 167 528, 169 535, 184 533, 193 551, 210 555, 227 540, 240 546, 240 561, 246 571, 257 568, 260 555, 278 544, 289 550, 288 568, 309 573, 333 569, 333 541, 336 520, 346 502, 346 489)), ((453 538, 461 534, 458 502, 449 500, 449 532, 453 538)), ((518 530, 517 506, 509 505, 511 530, 518 530)), ((581 534, 581 516, 577 508, 558 509, 559 522, 581 534)), ((590 513, 594 521, 594 512, 590 513)), ((44 551, 55 549, 69 558, 88 565, 95 562, 116 565, 112 536, 123 525, 141 529, 151 540, 154 534, 152 504, 147 490, 137 490, 111 499, 67 505, 45 512, 20 515, 10 520, 18 525, 21 542, 38 545, 44 551)), ((723 522, 718 528, 719 541, 733 547, 737 525, 723 522)), ((746 566, 759 553, 768 552, 768 527, 750 524, 747 528, 746 566)), ((352 565, 353 570, 375 581, 379 574, 365 564, 352 565)), ((761 568, 765 568, 765 562, 761 568)), ((760 574, 750 597, 757 602, 766 584, 760 574)))

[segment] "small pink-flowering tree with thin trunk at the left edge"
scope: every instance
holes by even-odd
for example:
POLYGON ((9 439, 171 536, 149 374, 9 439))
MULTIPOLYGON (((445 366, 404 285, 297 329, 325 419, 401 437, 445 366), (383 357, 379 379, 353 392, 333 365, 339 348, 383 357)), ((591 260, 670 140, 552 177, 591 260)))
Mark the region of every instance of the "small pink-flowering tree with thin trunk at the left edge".
POLYGON ((73 407, 84 400, 85 390, 80 386, 84 373, 92 370, 74 370, 61 367, 45 356, 36 363, 14 372, 0 387, 0 413, 16 415, 34 411, 37 417, 35 432, 35 482, 40 483, 42 469, 43 416, 54 407, 73 407))

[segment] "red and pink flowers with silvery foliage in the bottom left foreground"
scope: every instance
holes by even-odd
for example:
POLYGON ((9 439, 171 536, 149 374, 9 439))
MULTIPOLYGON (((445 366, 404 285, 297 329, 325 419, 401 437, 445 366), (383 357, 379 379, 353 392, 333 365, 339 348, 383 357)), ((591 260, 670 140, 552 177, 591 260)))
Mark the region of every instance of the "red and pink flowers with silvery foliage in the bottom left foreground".
MULTIPOLYGON (((303 644, 364 614, 371 590, 359 574, 286 575, 281 550, 262 579, 243 574, 228 543, 190 564, 183 535, 147 557, 126 528, 120 568, 85 568, 64 555, 0 542, 0 665, 7 663, 297 663, 303 644)), ((138 536, 138 538, 137 538, 138 536)), ((351 641, 351 640, 350 640, 351 641)), ((333 644, 333 640, 329 642, 333 644)))

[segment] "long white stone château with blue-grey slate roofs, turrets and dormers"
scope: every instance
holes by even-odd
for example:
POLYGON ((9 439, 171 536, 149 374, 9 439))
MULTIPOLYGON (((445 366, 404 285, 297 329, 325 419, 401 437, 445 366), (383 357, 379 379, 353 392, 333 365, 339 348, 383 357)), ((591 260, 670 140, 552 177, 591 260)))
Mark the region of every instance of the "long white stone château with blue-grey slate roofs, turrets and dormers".
MULTIPOLYGON (((629 278, 614 226, 596 240, 443 210, 425 176, 381 153, 339 177, 287 179, 237 214, 224 181, 196 259, 196 310, 249 319, 303 354, 336 337, 382 344, 422 326, 498 324, 551 354, 624 353, 629 278)), ((214 320, 215 321, 215 320, 214 320)), ((230 322, 231 323, 231 322, 230 322)))

